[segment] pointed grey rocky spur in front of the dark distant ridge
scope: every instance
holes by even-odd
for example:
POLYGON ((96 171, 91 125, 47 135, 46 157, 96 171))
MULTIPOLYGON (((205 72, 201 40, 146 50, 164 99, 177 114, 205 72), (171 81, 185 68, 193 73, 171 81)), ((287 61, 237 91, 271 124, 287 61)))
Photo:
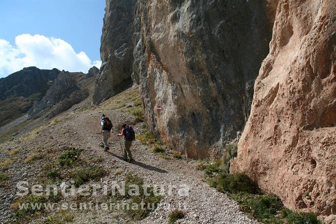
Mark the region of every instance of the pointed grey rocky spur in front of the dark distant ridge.
POLYGON ((51 118, 79 103, 88 95, 86 90, 82 90, 76 85, 71 73, 63 70, 53 81, 45 96, 40 101, 34 102, 34 106, 28 111, 29 118, 37 116, 44 109, 53 106, 46 115, 46 117, 51 118))

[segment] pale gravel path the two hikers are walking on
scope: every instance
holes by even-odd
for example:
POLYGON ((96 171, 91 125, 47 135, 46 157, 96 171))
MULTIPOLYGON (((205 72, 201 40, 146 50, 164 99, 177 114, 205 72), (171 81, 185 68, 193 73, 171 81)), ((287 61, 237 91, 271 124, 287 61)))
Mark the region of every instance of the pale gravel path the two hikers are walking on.
MULTIPOLYGON (((114 130, 120 127, 121 121, 132 123, 133 119, 130 115, 122 113, 121 110, 103 111, 114 123, 114 130)), ((210 188, 206 183, 202 182, 203 172, 195 170, 197 161, 183 159, 163 159, 158 154, 151 151, 149 146, 142 145, 139 141, 135 141, 131 147, 131 151, 135 158, 135 162, 129 163, 122 160, 122 152, 120 143, 116 134, 111 134, 109 139, 110 150, 104 152, 98 146, 101 141, 99 131, 99 118, 101 111, 99 108, 92 111, 84 111, 82 113, 70 113, 63 115, 61 121, 54 125, 53 128, 41 130, 38 136, 38 142, 31 144, 45 144, 51 147, 60 147, 62 145, 72 145, 84 148, 82 155, 86 157, 101 156, 104 166, 109 175, 100 180, 101 183, 110 183, 111 181, 122 180, 123 175, 117 176, 114 171, 118 169, 126 172, 132 172, 143 178, 146 184, 159 185, 165 191, 169 186, 177 186, 178 189, 188 189, 187 195, 180 196, 176 191, 171 195, 164 194, 161 203, 155 211, 150 213, 145 219, 138 223, 167 223, 169 214, 172 210, 179 208, 185 212, 185 217, 178 220, 177 223, 258 223, 250 219, 247 215, 239 211, 237 203, 227 197, 226 194, 217 192, 210 188)), ((136 133, 141 131, 141 123, 135 124, 133 127, 136 133)), ((119 131, 119 130, 118 130, 119 131)), ((1 146, 2 153, 0 156, 5 157, 3 151, 9 150, 17 146, 25 147, 16 157, 16 161, 12 162, 7 173, 10 181, 7 188, 0 188, 2 205, 0 212, 2 223, 9 220, 9 216, 13 212, 9 208, 16 196, 15 183, 20 180, 33 180, 38 176, 40 165, 37 163, 24 163, 24 158, 29 154, 29 147, 33 145, 23 144, 19 140, 13 143, 6 143, 1 146), (22 146, 24 145, 24 146, 22 146), (18 172, 19 170, 19 172, 18 172)), ((37 221, 38 222, 38 221, 37 221)), ((75 214, 75 223, 129 223, 129 220, 120 217, 120 214, 111 211, 88 211, 78 212, 75 214)), ((134 221, 131 221, 134 222, 134 221)))

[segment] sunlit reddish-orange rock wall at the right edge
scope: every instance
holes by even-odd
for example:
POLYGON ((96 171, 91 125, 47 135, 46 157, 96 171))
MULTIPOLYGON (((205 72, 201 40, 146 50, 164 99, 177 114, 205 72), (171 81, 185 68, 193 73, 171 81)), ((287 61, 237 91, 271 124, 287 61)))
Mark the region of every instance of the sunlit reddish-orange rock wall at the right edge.
POLYGON ((279 1, 231 172, 300 211, 336 214, 336 3, 279 1))

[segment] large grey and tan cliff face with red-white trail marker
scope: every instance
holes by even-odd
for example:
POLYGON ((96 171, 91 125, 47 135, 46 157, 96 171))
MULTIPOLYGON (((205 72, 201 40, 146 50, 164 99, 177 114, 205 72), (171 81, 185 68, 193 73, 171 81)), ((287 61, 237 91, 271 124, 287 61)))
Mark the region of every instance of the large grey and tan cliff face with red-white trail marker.
POLYGON ((244 128, 269 51, 267 6, 138 1, 133 80, 140 83, 147 126, 164 143, 190 157, 218 156, 244 128))

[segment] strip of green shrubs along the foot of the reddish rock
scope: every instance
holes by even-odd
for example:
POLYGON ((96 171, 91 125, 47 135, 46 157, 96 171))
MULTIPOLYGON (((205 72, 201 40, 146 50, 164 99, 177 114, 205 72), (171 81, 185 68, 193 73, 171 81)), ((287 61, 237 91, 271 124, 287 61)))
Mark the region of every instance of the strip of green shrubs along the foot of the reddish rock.
MULTIPOLYGON (((228 151, 227 154, 234 155, 235 152, 228 151)), ((263 223, 320 223, 315 214, 290 211, 276 195, 262 194, 245 174, 229 174, 226 161, 221 159, 202 164, 200 169, 204 170, 209 185, 236 200, 240 210, 263 223)))

